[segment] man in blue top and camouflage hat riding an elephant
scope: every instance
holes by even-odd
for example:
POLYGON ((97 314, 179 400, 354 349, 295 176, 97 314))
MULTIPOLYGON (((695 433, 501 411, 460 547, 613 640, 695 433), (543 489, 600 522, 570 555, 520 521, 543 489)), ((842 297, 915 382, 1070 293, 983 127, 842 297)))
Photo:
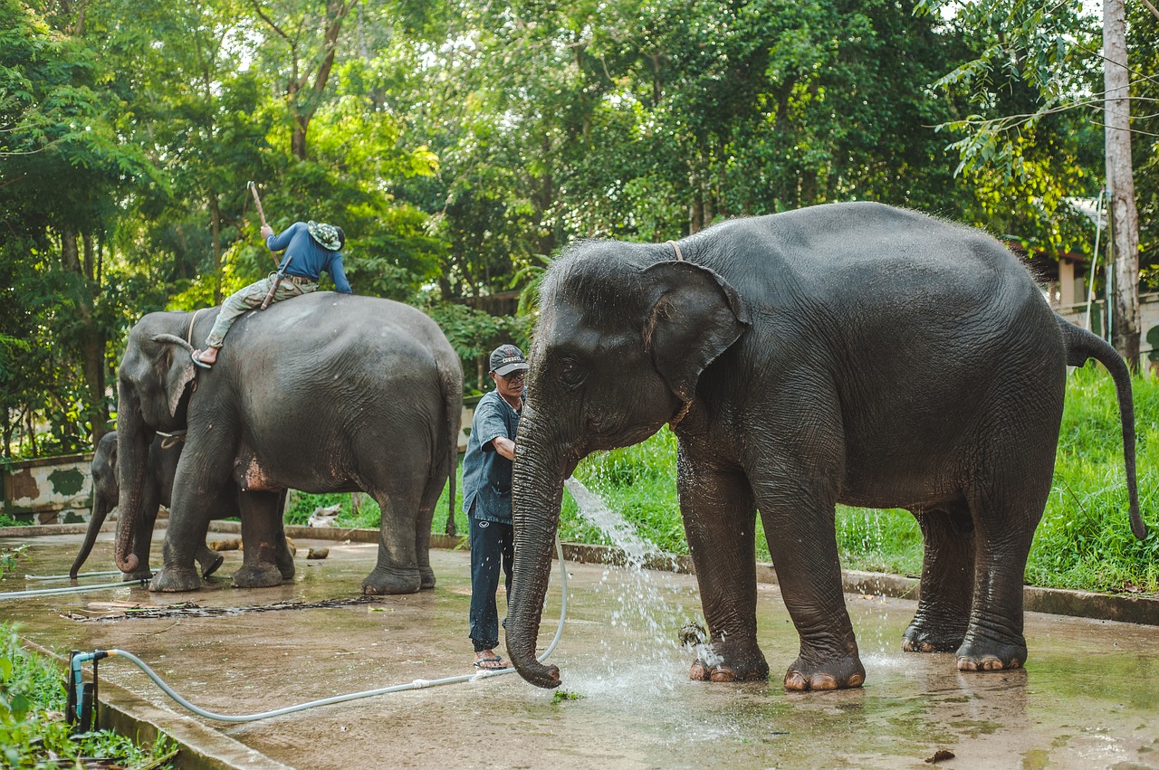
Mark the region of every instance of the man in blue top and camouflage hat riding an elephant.
MULTIPOLYGON (((257 198, 256 190, 254 198, 257 198)), ((234 292, 221 303, 221 311, 205 338, 205 347, 192 353, 194 364, 202 368, 207 369, 217 361, 218 349, 224 344, 225 336, 238 316, 253 308, 264 310, 270 302, 309 294, 318 288, 322 271, 330 274, 338 292, 352 293, 342 266, 341 249, 347 236, 341 227, 315 221, 294 222, 275 235, 263 214, 262 237, 270 251, 285 250, 285 256, 278 264, 277 272, 234 292)))

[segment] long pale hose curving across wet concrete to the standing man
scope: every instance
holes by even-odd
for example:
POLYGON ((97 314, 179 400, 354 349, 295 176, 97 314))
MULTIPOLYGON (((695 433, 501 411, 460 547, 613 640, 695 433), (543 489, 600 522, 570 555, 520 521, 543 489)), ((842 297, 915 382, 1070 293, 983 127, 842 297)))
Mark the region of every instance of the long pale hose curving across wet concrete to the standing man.
MULTIPOLYGON (((563 623, 568 614, 568 571, 567 565, 563 562, 563 547, 560 544, 559 537, 555 538, 555 552, 560 560, 560 587, 563 593, 562 602, 560 604, 560 623, 555 629, 555 637, 552 639, 551 644, 547 645, 547 650, 544 651, 541 655, 535 659, 539 662, 544 662, 554 652, 555 645, 559 644, 560 637, 563 636, 563 623)), ((121 584, 124 585, 124 584, 121 584)), ((459 682, 474 682, 478 680, 484 680, 494 676, 502 676, 503 674, 515 673, 515 668, 482 668, 474 674, 462 674, 460 676, 447 676, 437 680, 415 680, 413 682, 407 682, 404 684, 394 684, 392 687, 384 687, 376 690, 364 690, 362 692, 350 692, 349 695, 336 695, 329 698, 321 698, 319 701, 309 701, 308 703, 300 703, 294 706, 286 706, 284 709, 275 709, 272 711, 262 711, 260 713, 253 714, 220 714, 213 711, 206 711, 195 706, 192 703, 181 697, 172 687, 166 684, 156 673, 150 668, 145 662, 137 655, 125 652, 124 650, 97 650, 88 653, 76 653, 72 658, 71 662, 71 676, 70 682, 72 687, 76 689, 76 712, 70 713, 70 721, 81 719, 82 704, 86 702, 81 695, 83 688, 83 677, 81 675, 81 666, 87 661, 97 661, 105 658, 124 658, 129 662, 133 663, 140 668, 145 674, 153 680, 161 690, 168 695, 170 698, 176 701, 180 705, 184 706, 189 711, 204 717, 206 719, 213 719, 216 721, 228 721, 228 723, 242 723, 242 721, 257 721, 258 719, 269 719, 270 717, 280 717, 283 714, 293 713, 296 711, 305 711, 306 709, 314 709, 316 706, 327 706, 335 703, 347 703, 349 701, 358 701, 360 698, 370 698, 376 695, 388 695, 391 692, 403 692, 406 690, 420 690, 428 687, 439 687, 440 684, 455 684, 459 682)), ((95 662, 94 662, 95 668, 95 662)))

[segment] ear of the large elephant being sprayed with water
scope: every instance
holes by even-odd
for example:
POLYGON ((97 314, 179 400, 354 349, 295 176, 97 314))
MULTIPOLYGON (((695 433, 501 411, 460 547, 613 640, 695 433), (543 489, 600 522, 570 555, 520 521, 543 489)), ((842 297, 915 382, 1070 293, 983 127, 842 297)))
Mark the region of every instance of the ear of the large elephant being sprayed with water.
POLYGON ((736 289, 708 267, 661 262, 643 273, 653 287, 644 349, 672 393, 691 401, 700 373, 749 325, 749 310, 736 289))

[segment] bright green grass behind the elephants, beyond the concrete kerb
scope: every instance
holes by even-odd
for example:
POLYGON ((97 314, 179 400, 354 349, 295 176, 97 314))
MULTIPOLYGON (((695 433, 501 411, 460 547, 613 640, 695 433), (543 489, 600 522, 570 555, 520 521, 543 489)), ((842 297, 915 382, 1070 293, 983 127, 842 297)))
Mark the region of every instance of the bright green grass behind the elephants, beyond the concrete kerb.
MULTIPOLYGON (((1134 379, 1139 497, 1152 531, 1139 542, 1127 518, 1123 445, 1114 383, 1106 371, 1088 366, 1069 379, 1066 409, 1058 442, 1055 479, 1035 535, 1026 570, 1029 585, 1086 591, 1159 591, 1159 381, 1134 379)), ((665 427, 642 443, 586 457, 576 478, 630 521, 647 541, 671 553, 687 553, 676 493, 676 437, 665 427)), ((461 467, 455 501, 459 534, 462 514, 461 467)), ((446 496, 435 511, 432 531, 446 521, 446 496)), ((294 494, 287 523, 305 523, 318 505, 343 504, 338 523, 378 527, 378 506, 363 496, 359 514, 349 494, 294 494)), ((606 537, 577 513, 563 496, 560 537, 607 544, 606 537)), ((851 570, 917 575, 921 571, 921 533, 906 511, 837 509, 837 544, 851 570)), ((757 529, 757 558, 768 560, 768 547, 757 529)))

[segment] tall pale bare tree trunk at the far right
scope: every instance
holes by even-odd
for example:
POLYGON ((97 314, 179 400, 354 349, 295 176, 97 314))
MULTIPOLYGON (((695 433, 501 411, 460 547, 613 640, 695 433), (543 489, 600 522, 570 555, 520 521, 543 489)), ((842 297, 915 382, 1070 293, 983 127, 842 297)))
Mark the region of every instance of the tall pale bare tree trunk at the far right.
POLYGON ((1127 69, 1127 10, 1123 0, 1102 5, 1106 96, 1107 189, 1114 250, 1111 343, 1131 371, 1139 364, 1139 215, 1131 169, 1130 75, 1127 69))

